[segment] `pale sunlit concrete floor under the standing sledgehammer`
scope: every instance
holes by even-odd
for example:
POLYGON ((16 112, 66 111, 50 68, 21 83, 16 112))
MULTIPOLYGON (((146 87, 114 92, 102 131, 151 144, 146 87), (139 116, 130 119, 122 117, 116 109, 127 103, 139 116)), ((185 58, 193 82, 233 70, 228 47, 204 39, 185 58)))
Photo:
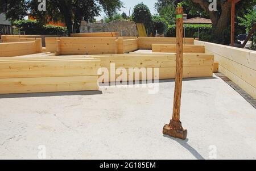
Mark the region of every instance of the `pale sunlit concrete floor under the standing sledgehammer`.
POLYGON ((174 80, 100 89, 0 95, 0 159, 256 159, 256 110, 220 78, 183 82, 185 141, 162 134, 174 80))

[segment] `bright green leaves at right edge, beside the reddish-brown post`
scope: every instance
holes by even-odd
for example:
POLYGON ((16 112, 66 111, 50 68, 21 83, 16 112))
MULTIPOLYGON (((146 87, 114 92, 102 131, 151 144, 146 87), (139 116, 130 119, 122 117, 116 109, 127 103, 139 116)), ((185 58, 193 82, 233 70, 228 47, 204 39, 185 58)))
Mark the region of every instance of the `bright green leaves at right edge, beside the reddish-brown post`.
POLYGON ((244 15, 244 17, 237 17, 238 20, 240 20, 240 26, 245 26, 246 31, 249 32, 251 30, 251 27, 253 26, 254 23, 256 23, 256 9, 254 10, 249 10, 247 14, 244 15))

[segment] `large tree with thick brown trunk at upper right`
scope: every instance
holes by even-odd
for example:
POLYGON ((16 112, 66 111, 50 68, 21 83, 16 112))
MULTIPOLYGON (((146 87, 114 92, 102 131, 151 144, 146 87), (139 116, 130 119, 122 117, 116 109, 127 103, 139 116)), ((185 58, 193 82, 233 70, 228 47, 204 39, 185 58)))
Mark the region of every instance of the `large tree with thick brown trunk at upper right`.
MULTIPOLYGON (((201 16, 212 20, 214 38, 218 43, 227 43, 230 41, 226 36, 227 29, 230 28, 231 18, 231 3, 228 0, 217 0, 217 11, 210 11, 210 2, 207 0, 158 0, 155 7, 156 10, 161 10, 162 7, 168 4, 177 4, 184 2, 184 12, 188 14, 188 18, 201 16)), ((242 0, 237 3, 236 16, 246 14, 247 10, 252 9, 256 4, 256 0, 242 0)))

